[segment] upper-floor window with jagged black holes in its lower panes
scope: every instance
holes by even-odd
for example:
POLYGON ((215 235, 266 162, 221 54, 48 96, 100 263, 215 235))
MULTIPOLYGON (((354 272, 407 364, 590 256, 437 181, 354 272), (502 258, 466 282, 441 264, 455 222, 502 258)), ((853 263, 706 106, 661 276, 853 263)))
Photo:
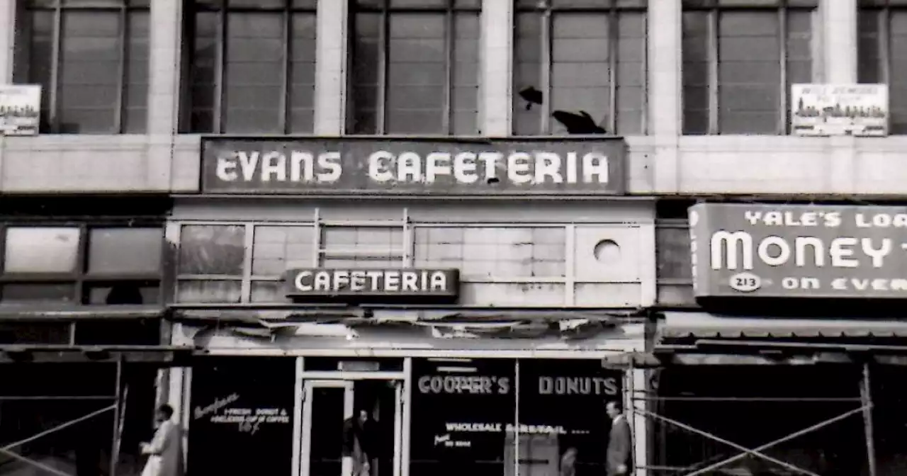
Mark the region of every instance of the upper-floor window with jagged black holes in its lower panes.
POLYGON ((644 0, 516 0, 513 133, 641 134, 644 0))

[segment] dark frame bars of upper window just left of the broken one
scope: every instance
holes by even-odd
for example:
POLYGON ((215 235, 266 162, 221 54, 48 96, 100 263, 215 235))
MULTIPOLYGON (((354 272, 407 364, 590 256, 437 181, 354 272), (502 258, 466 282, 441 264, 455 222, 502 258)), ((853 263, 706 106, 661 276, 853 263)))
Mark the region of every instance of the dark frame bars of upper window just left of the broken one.
MULTIPOLYGON (((344 120, 344 131, 350 135, 379 135, 385 136, 387 133, 387 90, 388 90, 388 69, 390 67, 390 62, 388 57, 390 56, 390 17, 393 14, 443 14, 444 15, 444 117, 442 119, 442 131, 436 134, 419 134, 419 135, 437 135, 441 137, 447 137, 453 135, 453 79, 455 75, 453 63, 455 62, 456 54, 456 37, 454 34, 455 28, 455 16, 459 13, 473 13, 479 15, 480 20, 480 35, 481 35, 481 19, 482 19, 482 2, 478 2, 478 6, 470 5, 458 5, 457 0, 444 0, 444 7, 434 6, 434 5, 412 5, 412 6, 392 6, 394 0, 378 0, 380 2, 379 6, 372 5, 358 5, 357 0, 322 0, 322 1, 345 1, 348 2, 347 8, 347 28, 346 31, 350 32, 347 35, 347 54, 346 59, 346 71, 351 72, 353 68, 353 63, 356 63, 356 14, 366 13, 366 14, 378 14, 381 16, 379 22, 380 27, 378 30, 378 84, 377 84, 377 98, 375 100, 375 131, 374 132, 354 132, 356 128, 354 127, 354 121, 356 121, 356 101, 353 99, 352 94, 355 94, 356 86, 354 84, 354 75, 346 75, 346 91, 349 99, 346 100, 346 117, 344 120)), ((505 0, 498 0, 505 1, 505 0)), ((480 38, 481 44, 481 38, 480 38)), ((480 94, 477 96, 476 107, 476 124, 475 129, 479 133, 482 131, 482 124, 479 123, 482 117, 482 100, 481 90, 482 90, 482 57, 481 52, 482 47, 479 47, 479 67, 477 73, 479 78, 477 82, 479 84, 480 94)))

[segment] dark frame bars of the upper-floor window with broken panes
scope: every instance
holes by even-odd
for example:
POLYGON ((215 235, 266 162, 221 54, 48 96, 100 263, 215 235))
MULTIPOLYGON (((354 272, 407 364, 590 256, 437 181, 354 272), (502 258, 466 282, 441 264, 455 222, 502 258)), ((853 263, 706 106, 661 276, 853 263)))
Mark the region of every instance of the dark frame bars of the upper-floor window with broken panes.
MULTIPOLYGON (((589 6, 551 6, 551 2, 556 2, 557 0, 541 0, 534 6, 520 5, 520 0, 510 0, 513 2, 513 24, 512 29, 512 57, 514 59, 514 66, 516 65, 516 49, 518 47, 518 42, 520 38, 517 35, 516 22, 517 17, 522 13, 538 13, 541 14, 541 18, 544 21, 541 24, 541 37, 539 38, 541 44, 546 47, 541 48, 541 77, 539 78, 539 91, 541 91, 544 101, 541 104, 533 104, 532 109, 538 108, 538 114, 541 116, 540 126, 541 129, 539 134, 540 136, 552 136, 551 132, 551 112, 553 105, 551 104, 551 70, 552 66, 552 57, 554 49, 554 40, 553 40, 553 15, 558 13, 589 13, 589 14, 602 14, 607 13, 608 15, 608 69, 609 69, 609 79, 608 79, 608 88, 609 88, 609 105, 608 105, 608 116, 605 118, 604 127, 606 131, 609 131, 610 135, 617 135, 617 105, 618 105, 618 63, 619 63, 619 15, 621 13, 639 13, 643 15, 643 23, 648 24, 649 22, 649 0, 610 0, 607 6, 600 7, 589 7, 589 6), (632 2, 632 3, 630 3, 632 2)), ((652 1, 663 1, 663 0, 652 0, 652 1)), ((639 121, 639 135, 646 135, 649 131, 649 78, 647 77, 649 70, 649 34, 646 34, 643 38, 643 54, 642 54, 642 86, 640 94, 642 95, 640 102, 640 115, 639 121)), ((513 92, 519 92, 520 84, 516 83, 517 78, 516 74, 512 74, 512 90, 513 92)), ((512 109, 519 107, 517 102, 512 103, 512 109)), ((513 113, 511 116, 513 117, 513 113)), ((515 120, 511 120, 511 134, 514 133, 514 128, 516 126, 515 120)))

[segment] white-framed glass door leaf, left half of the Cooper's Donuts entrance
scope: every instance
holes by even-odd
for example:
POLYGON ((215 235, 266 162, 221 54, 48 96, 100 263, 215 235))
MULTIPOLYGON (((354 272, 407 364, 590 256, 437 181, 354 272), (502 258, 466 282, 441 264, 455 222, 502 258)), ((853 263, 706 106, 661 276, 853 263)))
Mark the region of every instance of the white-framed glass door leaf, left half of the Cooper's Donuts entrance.
POLYGON ((303 387, 302 476, 351 476, 344 425, 353 418, 353 383, 310 380, 303 387))

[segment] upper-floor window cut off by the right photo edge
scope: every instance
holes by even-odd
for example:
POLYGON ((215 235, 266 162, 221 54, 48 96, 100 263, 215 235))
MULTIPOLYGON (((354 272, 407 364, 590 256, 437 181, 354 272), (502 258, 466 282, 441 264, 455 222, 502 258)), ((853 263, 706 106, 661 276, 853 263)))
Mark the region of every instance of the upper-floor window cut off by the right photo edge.
POLYGON ((907 133, 907 1, 862 0, 858 33, 857 80, 888 84, 889 131, 907 133))

